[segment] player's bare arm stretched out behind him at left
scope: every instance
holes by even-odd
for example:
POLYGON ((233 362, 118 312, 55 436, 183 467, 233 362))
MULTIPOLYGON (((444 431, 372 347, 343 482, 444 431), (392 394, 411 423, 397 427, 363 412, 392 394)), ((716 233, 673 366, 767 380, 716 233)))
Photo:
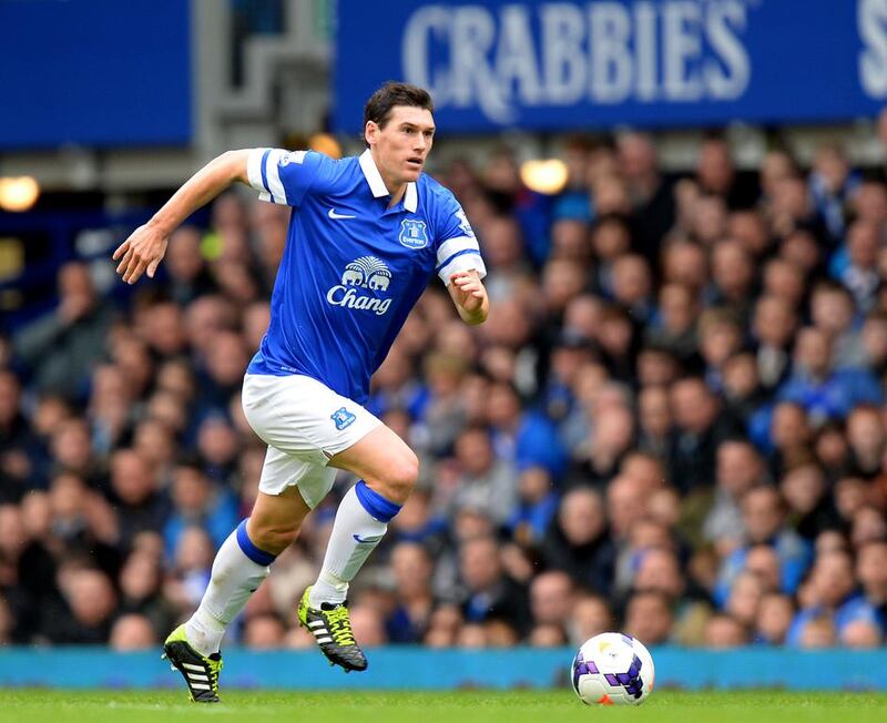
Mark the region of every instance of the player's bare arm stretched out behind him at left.
POLYGON ((147 272, 154 276, 166 253, 170 234, 197 208, 205 205, 235 181, 248 183, 246 162, 249 150, 227 151, 203 166, 173 194, 146 224, 124 241, 112 258, 120 261, 118 274, 134 284, 147 272))

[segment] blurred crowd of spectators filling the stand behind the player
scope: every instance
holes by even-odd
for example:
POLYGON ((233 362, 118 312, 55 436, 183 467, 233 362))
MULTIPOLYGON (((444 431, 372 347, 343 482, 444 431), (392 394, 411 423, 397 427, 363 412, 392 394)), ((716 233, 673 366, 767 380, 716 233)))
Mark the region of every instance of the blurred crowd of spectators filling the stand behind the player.
MULTIPOLYGON (((368 408, 421 460, 351 587, 365 645, 875 646, 887 631, 887 184, 823 146, 693 173, 570 142, 438 177, 477 232, 486 324, 432 281, 368 408)), ((84 263, 0 340, 0 644, 156 645, 256 495, 239 387, 288 210, 230 193, 128 307, 84 263)), ((111 264, 109 261, 108 264, 111 264)), ((226 644, 314 645, 294 605, 340 475, 226 644)))

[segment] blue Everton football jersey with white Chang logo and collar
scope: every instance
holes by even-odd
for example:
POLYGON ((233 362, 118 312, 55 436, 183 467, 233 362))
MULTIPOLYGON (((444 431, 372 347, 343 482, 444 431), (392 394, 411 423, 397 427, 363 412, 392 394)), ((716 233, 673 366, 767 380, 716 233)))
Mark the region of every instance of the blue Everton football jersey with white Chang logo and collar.
POLYGON ((271 325, 247 373, 303 374, 364 404, 431 275, 486 275, 465 212, 425 174, 389 208, 368 150, 334 161, 255 149, 247 170, 259 198, 293 207, 271 325))

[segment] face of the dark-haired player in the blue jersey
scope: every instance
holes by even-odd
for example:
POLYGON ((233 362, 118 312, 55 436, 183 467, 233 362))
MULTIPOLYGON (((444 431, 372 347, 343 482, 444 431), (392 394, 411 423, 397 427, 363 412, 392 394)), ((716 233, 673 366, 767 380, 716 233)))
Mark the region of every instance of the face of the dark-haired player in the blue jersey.
POLYGON ((435 134, 431 112, 412 105, 395 105, 384 128, 367 123, 366 140, 386 184, 416 181, 422 171, 435 134))

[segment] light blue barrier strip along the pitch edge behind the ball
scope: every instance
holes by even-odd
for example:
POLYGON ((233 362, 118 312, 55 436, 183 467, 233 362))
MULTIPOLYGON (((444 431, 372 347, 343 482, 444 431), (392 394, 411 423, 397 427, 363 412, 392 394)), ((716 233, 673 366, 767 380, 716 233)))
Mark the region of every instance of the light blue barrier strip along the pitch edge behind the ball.
MULTIPOLYGON (((453 690, 565 688, 572 649, 368 651, 369 670, 344 675, 316 651, 225 651, 224 689, 453 690)), ((868 651, 652 649, 656 688, 887 690, 887 648, 868 651)), ((0 688, 180 686, 157 652, 0 648, 0 688)))

